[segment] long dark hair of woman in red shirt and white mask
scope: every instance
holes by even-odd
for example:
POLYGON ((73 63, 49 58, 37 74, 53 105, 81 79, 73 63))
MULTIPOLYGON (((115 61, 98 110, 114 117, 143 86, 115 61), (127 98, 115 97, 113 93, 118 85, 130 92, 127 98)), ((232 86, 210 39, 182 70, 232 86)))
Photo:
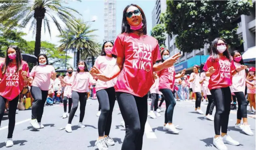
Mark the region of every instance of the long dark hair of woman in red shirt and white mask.
MULTIPOLYGON (((213 42, 211 43, 211 55, 212 55, 213 62, 218 61, 220 59, 220 55, 217 50, 218 40, 222 40, 226 44, 226 41, 223 38, 215 38, 213 40, 213 42)), ((223 52, 223 55, 226 56, 226 58, 229 59, 229 61, 231 62, 232 58, 228 52, 227 44, 226 44, 226 47, 227 47, 227 49, 226 49, 226 51, 223 52)))

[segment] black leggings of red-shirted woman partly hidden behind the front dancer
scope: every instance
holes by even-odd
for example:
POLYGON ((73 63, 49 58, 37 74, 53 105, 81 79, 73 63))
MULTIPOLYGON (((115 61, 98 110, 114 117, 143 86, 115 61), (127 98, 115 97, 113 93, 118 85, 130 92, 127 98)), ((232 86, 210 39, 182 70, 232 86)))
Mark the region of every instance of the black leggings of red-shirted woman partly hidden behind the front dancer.
POLYGON ((160 89, 165 97, 166 110, 164 113, 164 123, 173 123, 173 110, 176 105, 176 101, 173 97, 171 89, 160 89))

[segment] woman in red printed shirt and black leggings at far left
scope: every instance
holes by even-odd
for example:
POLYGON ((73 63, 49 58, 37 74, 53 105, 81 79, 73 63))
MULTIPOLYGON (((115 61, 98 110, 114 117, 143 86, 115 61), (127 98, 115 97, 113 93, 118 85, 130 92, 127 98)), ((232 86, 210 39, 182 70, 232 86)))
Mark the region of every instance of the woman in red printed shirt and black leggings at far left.
POLYGON ((13 131, 15 127, 16 108, 19 93, 27 82, 29 73, 28 63, 22 61, 21 50, 18 46, 10 45, 6 49, 5 61, 0 64, 0 126, 6 101, 9 101, 9 125, 6 147, 13 146, 13 131))

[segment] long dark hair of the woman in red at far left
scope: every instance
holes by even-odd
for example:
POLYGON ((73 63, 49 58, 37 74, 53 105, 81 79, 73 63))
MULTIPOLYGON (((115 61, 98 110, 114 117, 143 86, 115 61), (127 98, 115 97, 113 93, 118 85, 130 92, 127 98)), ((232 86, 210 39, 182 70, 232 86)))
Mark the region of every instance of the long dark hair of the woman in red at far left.
POLYGON ((16 45, 10 45, 7 47, 6 49, 6 56, 5 56, 5 61, 4 61, 4 65, 2 67, 2 74, 6 73, 6 70, 8 68, 8 66, 11 64, 11 59, 8 57, 8 49, 14 49, 16 51, 16 66, 17 66, 17 70, 15 72, 19 72, 22 69, 22 55, 21 55, 21 50, 19 49, 18 46, 16 45))

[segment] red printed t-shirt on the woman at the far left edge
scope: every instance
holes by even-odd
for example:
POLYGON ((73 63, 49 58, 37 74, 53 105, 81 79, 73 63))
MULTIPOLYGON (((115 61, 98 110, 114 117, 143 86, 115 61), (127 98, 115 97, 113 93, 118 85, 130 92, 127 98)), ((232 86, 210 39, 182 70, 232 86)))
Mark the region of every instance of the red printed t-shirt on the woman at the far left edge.
POLYGON ((2 74, 3 65, 4 62, 0 64, 0 78, 2 79, 0 82, 0 95, 11 101, 15 99, 19 93, 21 93, 23 87, 25 86, 21 72, 26 71, 29 74, 28 63, 22 61, 22 70, 19 72, 16 72, 16 64, 11 64, 11 66, 7 68, 5 74, 2 74))

